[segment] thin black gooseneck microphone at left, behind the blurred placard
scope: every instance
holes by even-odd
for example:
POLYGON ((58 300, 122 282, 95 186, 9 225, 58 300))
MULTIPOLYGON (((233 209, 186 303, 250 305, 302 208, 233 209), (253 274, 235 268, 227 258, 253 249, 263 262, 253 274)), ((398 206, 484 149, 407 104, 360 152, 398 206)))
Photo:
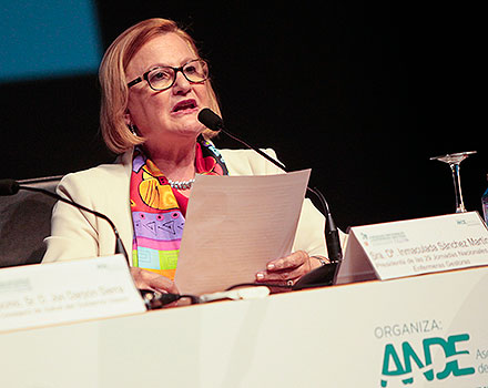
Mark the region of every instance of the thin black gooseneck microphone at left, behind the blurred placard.
POLYGON ((35 193, 41 193, 41 194, 48 195, 54 200, 64 202, 71 206, 74 206, 74 207, 81 208, 82 211, 91 213, 91 214, 95 215, 96 217, 105 219, 109 223, 109 225, 112 227, 113 233, 115 234, 115 254, 124 255, 125 261, 128 262, 128 265, 129 265, 129 255, 124 248, 124 245, 122 244, 122 239, 120 238, 119 231, 116 229, 112 219, 110 219, 106 215, 99 213, 96 211, 93 211, 91 208, 88 208, 83 205, 80 205, 80 204, 75 203, 74 201, 63 198, 61 195, 59 195, 57 193, 52 193, 49 190, 20 185, 19 182, 17 182, 14 180, 0 180, 0 196, 14 195, 19 192, 19 190, 26 190, 29 192, 35 192, 35 193))

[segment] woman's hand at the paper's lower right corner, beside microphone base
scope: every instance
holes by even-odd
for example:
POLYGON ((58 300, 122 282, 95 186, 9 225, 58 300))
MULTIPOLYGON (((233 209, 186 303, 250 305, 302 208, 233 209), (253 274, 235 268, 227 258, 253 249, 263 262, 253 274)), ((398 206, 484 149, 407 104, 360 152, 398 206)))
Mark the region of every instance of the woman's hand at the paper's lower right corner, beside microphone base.
POLYGON ((256 280, 258 283, 292 286, 303 275, 319 265, 321 263, 317 259, 311 258, 306 252, 297 251, 289 256, 268 262, 266 270, 256 274, 256 280))

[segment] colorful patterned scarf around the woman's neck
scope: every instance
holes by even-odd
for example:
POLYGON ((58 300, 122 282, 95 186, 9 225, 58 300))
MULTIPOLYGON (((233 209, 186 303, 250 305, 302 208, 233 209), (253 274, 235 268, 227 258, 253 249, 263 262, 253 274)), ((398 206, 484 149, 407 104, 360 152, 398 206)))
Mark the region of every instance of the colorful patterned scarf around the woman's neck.
MULTIPOLYGON (((197 174, 228 174, 220 152, 203 137, 199 137, 195 154, 197 174)), ((132 159, 130 200, 134 226, 132 265, 173 279, 187 198, 170 186, 141 147, 134 150, 132 159)))

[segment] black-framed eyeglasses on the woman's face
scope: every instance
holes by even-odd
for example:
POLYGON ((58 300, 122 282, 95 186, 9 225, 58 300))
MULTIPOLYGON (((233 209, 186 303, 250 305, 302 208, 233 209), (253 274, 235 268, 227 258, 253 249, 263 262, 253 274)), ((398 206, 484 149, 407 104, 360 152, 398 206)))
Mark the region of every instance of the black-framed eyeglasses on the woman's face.
POLYGON ((157 67, 145 72, 141 76, 128 83, 128 88, 148 81, 149 86, 154 91, 162 91, 173 86, 177 72, 181 71, 189 82, 203 82, 209 79, 209 65, 202 59, 194 59, 180 68, 157 67))

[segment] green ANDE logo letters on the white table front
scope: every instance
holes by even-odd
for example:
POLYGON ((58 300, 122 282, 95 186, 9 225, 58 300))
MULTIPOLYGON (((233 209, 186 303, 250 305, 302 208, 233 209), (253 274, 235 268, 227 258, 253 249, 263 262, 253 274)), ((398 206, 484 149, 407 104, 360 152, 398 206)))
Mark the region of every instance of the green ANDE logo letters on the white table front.
MULTIPOLYGON (((382 387, 387 387, 388 379, 392 378, 400 378, 404 385, 413 384, 413 364, 417 366, 428 381, 444 380, 449 376, 474 375, 475 368, 459 366, 460 356, 469 354, 468 350, 460 350, 462 348, 460 343, 468 340, 468 334, 449 336, 447 340, 441 337, 425 338, 421 343, 421 349, 417 351, 408 341, 401 343, 401 349, 396 349, 393 344, 387 344, 383 357, 382 387), (436 371, 433 366, 433 348, 438 347, 444 350, 444 369, 436 371)), ((436 361, 438 361, 437 355, 436 361)))

